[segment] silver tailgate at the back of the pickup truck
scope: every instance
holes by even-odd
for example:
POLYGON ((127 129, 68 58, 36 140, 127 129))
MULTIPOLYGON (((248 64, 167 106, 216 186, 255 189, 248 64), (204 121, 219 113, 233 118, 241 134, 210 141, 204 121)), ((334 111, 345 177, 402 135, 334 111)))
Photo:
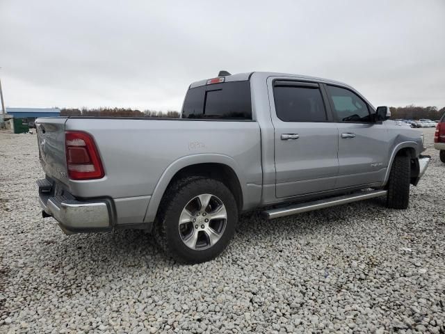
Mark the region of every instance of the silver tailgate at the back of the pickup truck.
POLYGON ((40 164, 44 173, 68 184, 65 158, 65 122, 67 118, 38 118, 35 120, 40 164))

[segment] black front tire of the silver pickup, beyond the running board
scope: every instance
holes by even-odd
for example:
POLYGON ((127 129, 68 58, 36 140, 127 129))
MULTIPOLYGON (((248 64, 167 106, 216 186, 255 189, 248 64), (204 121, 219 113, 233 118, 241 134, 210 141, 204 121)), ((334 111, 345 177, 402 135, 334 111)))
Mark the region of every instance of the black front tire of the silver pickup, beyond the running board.
POLYGON ((387 184, 387 207, 406 209, 410 202, 410 157, 398 155, 394 159, 387 184))

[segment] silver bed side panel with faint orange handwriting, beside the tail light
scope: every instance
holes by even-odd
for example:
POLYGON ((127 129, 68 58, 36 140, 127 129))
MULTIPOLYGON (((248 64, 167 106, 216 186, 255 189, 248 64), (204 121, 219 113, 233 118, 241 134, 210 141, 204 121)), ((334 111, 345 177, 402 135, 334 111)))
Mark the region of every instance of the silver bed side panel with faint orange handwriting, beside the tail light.
POLYGON ((203 154, 232 161, 241 187, 261 185, 257 122, 70 118, 66 130, 94 137, 105 170, 100 180, 70 180, 75 196, 151 196, 175 161, 200 163, 203 154))

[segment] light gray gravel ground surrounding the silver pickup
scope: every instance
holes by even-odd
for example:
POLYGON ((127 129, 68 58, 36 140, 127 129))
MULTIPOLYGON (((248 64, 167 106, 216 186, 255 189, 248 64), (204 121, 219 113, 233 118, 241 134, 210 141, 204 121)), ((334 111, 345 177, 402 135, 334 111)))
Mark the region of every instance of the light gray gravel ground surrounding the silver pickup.
POLYGON ((254 212, 193 266, 138 231, 65 236, 40 216, 36 136, 0 132, 0 332, 445 333, 445 164, 423 132, 409 209, 254 212))

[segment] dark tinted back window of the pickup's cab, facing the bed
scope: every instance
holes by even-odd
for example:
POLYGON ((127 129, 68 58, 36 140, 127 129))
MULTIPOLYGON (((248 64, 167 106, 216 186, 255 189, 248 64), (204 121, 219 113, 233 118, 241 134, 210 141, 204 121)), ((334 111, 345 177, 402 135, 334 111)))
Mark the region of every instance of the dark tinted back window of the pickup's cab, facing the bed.
POLYGON ((229 81, 190 88, 182 118, 252 120, 250 81, 229 81))

